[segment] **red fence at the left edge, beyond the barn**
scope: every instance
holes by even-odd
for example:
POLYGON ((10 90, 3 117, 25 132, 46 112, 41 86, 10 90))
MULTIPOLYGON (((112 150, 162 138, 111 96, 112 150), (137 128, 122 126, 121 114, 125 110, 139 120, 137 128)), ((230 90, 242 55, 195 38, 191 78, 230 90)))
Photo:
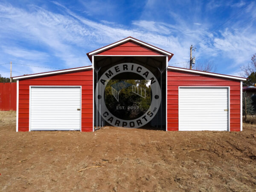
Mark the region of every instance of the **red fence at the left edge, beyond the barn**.
POLYGON ((16 83, 0 83, 0 111, 16 111, 16 98, 16 83))

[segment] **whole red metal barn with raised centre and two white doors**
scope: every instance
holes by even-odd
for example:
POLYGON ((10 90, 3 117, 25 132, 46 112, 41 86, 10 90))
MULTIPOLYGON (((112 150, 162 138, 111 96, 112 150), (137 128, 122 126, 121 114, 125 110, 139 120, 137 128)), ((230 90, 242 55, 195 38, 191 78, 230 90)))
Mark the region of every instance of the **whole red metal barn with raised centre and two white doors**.
POLYGON ((17 131, 94 131, 104 125, 166 131, 242 130, 244 78, 169 67, 172 53, 132 37, 87 56, 92 66, 14 78, 17 131), (148 85, 140 87, 130 80, 145 80, 148 85), (108 86, 115 111, 105 103, 108 86), (143 114, 119 115, 139 108, 121 105, 125 89, 131 98, 150 102, 143 114))

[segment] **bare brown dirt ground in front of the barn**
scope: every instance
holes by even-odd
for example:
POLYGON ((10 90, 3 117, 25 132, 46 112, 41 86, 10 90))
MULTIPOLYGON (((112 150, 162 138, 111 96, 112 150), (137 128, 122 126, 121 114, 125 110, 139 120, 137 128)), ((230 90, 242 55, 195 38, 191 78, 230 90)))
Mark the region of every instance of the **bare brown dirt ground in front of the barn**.
POLYGON ((256 126, 242 132, 15 132, 0 112, 2 191, 255 191, 256 126), (102 166, 81 169, 91 166, 102 166))

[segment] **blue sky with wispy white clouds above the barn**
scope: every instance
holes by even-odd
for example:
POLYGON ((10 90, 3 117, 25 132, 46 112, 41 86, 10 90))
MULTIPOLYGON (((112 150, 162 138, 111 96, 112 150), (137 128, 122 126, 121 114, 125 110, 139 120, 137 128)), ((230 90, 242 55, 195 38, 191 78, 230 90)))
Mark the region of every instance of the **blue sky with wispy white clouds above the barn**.
POLYGON ((241 76, 255 10, 254 0, 1 0, 0 75, 10 61, 12 76, 91 65, 87 52, 132 36, 172 52, 171 66, 185 67, 194 45, 196 64, 241 76))

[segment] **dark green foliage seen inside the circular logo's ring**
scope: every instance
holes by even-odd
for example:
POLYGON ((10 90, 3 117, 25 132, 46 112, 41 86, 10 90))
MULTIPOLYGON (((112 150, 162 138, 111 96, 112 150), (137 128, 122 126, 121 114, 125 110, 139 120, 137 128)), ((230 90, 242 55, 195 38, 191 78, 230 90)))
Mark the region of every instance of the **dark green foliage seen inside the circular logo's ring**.
POLYGON ((149 80, 111 79, 105 88, 105 104, 111 113, 121 119, 132 120, 142 116, 151 105, 149 80))

